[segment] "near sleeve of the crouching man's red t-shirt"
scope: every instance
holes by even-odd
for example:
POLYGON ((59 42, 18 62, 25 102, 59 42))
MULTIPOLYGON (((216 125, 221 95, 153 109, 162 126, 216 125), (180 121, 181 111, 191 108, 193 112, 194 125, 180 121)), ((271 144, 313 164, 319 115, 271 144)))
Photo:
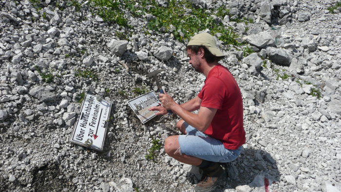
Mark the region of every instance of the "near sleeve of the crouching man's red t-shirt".
POLYGON ((226 91, 226 87, 221 79, 210 77, 198 94, 198 97, 202 99, 200 106, 221 109, 226 91))

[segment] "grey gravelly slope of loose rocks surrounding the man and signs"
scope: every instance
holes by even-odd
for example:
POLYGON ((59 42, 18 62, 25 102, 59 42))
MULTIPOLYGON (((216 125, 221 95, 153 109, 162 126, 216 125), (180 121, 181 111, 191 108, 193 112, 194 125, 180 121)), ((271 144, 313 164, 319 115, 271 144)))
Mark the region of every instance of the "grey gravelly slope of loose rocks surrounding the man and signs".
MULTIPOLYGON (((159 77, 177 102, 196 96, 205 77, 188 64, 186 42, 144 33, 150 15, 126 11, 128 30, 92 14, 89 1, 35 3, 0 1, 0 189, 192 191, 196 167, 162 147, 155 162, 145 157, 153 139, 179 134, 178 119, 143 125, 126 102, 156 91, 146 75, 160 68, 170 69, 159 77), (103 152, 69 141, 83 93, 113 103, 103 152)), ((192 3, 254 20, 219 20, 254 53, 219 41, 242 91, 247 140, 216 191, 341 191, 341 10, 327 10, 336 1, 192 3)))

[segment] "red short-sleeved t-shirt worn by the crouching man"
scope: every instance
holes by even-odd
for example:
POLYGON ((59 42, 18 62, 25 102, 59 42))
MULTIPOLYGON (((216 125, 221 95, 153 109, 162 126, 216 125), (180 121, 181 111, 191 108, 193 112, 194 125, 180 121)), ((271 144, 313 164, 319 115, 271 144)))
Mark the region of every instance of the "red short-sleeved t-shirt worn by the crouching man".
POLYGON ((205 134, 219 139, 226 149, 235 150, 245 143, 243 100, 239 86, 222 65, 213 67, 198 94, 201 105, 218 109, 205 134))

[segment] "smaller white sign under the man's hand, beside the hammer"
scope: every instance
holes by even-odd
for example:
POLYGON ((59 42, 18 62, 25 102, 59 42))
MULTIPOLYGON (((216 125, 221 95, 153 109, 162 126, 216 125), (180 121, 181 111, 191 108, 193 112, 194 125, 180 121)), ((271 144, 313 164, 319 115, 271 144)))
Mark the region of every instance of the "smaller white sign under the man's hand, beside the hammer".
POLYGON ((156 98, 153 91, 129 100, 128 104, 142 123, 146 123, 157 113, 156 111, 148 111, 149 108, 153 106, 161 106, 159 99, 156 98))

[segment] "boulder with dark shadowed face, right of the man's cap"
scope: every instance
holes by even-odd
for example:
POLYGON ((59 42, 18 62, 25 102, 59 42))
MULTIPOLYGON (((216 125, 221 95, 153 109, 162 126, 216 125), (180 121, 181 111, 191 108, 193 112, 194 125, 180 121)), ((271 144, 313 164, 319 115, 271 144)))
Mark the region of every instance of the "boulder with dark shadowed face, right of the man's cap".
POLYGON ((274 63, 283 66, 289 66, 291 63, 290 56, 283 49, 268 47, 266 48, 267 57, 274 63))

